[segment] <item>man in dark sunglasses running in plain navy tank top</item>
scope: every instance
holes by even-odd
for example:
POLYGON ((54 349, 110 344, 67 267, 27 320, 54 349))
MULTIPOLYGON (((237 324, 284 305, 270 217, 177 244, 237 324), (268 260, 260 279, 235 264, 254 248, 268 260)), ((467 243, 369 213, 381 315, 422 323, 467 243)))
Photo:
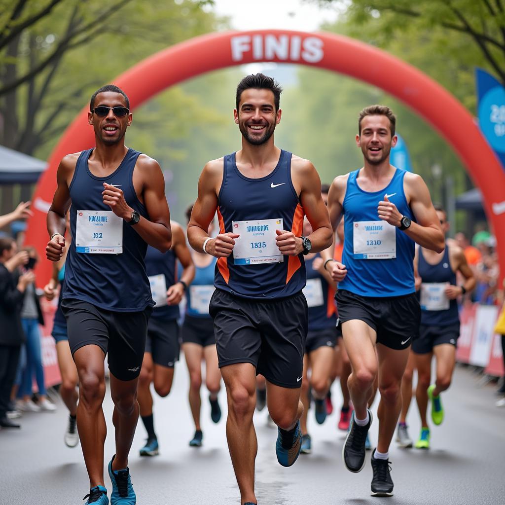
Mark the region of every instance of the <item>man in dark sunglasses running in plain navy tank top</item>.
POLYGON ((77 425, 91 487, 86 504, 109 503, 102 410, 106 355, 113 421, 120 433, 109 463, 111 503, 136 503, 128 453, 138 419, 136 390, 147 321, 154 305, 144 256, 147 244, 161 251, 171 244, 161 168, 124 143, 132 122, 129 109, 128 97, 117 86, 109 84, 93 93, 88 122, 96 147, 63 158, 47 213, 51 239, 46 256, 57 262, 64 254, 65 214, 72 204, 62 308, 79 375, 77 425))

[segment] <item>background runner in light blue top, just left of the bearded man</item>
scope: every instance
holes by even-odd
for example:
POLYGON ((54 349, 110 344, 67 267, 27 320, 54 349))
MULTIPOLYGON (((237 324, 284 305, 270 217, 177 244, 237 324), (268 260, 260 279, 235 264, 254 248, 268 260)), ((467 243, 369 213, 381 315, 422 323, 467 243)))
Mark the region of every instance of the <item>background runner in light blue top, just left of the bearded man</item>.
MULTIPOLYGON (((192 210, 192 205, 186 210, 188 223, 192 210)), ((214 221, 209 226, 210 235, 212 235, 213 229, 214 221)), ((195 427, 194 436, 189 441, 189 445, 200 447, 204 438, 200 426, 201 364, 203 361, 206 364, 205 383, 209 390, 211 419, 214 423, 219 423, 221 420, 221 408, 218 402, 221 372, 218 367, 214 322, 209 315, 209 303, 214 292, 214 270, 217 260, 213 256, 198 251, 193 251, 192 257, 195 276, 186 294, 186 314, 182 324, 182 350, 189 372, 189 406, 195 427)))

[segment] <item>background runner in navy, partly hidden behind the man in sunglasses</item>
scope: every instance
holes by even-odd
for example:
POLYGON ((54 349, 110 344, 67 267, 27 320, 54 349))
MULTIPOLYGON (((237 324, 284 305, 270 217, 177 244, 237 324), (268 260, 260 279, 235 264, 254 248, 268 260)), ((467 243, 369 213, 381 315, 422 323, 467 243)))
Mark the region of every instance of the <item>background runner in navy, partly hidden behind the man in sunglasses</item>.
POLYGON ((140 456, 159 454, 158 437, 154 428, 153 396, 150 385, 165 398, 172 389, 175 362, 179 361, 179 304, 184 292, 194 277, 194 265, 186 244, 184 230, 175 221, 172 228, 172 247, 160 252, 147 247, 145 270, 149 276, 151 294, 156 302, 155 310, 149 318, 144 359, 138 380, 138 405, 140 418, 147 432, 147 440, 140 448, 140 456), (182 265, 180 279, 177 277, 176 262, 182 265), (168 289, 167 289, 168 286, 168 289))

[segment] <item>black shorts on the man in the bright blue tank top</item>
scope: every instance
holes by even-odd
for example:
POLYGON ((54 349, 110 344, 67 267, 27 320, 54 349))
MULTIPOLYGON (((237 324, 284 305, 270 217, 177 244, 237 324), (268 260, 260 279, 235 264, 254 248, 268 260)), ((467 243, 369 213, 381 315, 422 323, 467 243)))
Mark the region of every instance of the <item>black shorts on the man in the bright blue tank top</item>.
POLYGON ((381 298, 339 289, 335 299, 342 323, 364 321, 377 333, 377 343, 390 349, 406 349, 418 334, 421 306, 416 293, 381 298))

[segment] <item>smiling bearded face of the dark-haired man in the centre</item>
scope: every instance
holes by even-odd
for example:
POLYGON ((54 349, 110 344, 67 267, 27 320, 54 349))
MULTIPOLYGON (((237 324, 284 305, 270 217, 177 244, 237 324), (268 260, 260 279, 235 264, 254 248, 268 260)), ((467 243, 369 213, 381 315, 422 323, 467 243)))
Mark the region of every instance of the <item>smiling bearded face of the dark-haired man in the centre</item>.
POLYGON ((281 120, 281 110, 275 111, 274 93, 270 89, 242 91, 238 111, 233 115, 240 133, 252 145, 267 142, 281 120))

